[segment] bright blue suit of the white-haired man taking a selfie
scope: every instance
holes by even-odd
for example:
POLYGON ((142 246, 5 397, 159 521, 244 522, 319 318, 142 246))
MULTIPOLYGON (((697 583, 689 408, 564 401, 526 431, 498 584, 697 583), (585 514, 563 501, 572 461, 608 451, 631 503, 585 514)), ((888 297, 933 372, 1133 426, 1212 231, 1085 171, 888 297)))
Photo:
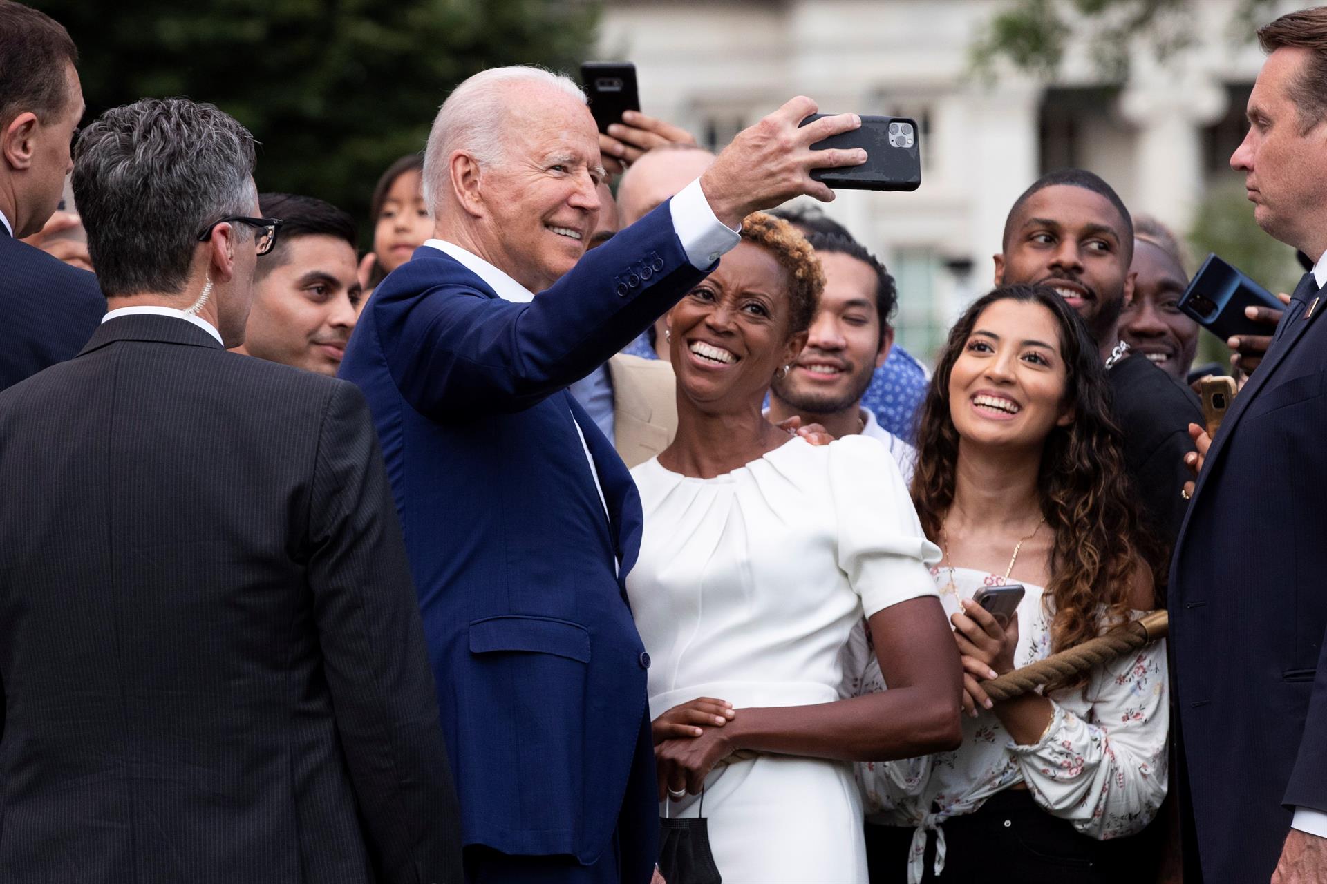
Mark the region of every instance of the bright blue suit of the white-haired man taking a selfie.
POLYGON ((350 339, 341 376, 364 390, 382 441, 466 844, 589 864, 617 828, 624 880, 649 877, 649 657, 625 592, 641 504, 565 387, 703 276, 667 204, 532 304, 425 247, 350 339))

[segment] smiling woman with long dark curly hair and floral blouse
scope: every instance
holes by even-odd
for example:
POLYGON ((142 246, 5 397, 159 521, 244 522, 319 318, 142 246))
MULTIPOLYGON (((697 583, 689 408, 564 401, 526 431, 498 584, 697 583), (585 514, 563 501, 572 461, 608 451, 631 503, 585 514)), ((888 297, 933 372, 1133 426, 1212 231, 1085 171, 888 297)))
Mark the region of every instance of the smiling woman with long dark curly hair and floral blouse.
MULTIPOLYGON (((1151 598, 1137 501, 1097 349, 1052 289, 979 298, 949 335, 920 419, 912 494, 963 663, 963 742, 859 765, 872 881, 1105 880, 1100 842, 1166 790, 1161 643, 993 704, 981 689, 1131 618, 1151 598), (973 602, 1026 594, 1006 626, 973 602)), ((867 667, 861 689, 885 688, 867 667)))

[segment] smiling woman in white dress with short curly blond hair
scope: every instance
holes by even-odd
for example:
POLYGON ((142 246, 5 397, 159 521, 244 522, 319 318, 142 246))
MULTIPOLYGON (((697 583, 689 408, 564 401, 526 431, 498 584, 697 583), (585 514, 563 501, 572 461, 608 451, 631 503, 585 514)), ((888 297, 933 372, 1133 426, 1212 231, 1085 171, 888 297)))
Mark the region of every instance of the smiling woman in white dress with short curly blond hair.
POLYGON ((678 432, 632 470, 628 577, 649 671, 660 799, 707 819, 725 884, 867 880, 851 761, 953 747, 959 668, 898 468, 872 440, 815 447, 764 420, 823 277, 791 225, 743 243, 669 314, 678 432), (868 618, 892 689, 840 698, 868 618), (739 753, 739 754, 734 754, 739 753))

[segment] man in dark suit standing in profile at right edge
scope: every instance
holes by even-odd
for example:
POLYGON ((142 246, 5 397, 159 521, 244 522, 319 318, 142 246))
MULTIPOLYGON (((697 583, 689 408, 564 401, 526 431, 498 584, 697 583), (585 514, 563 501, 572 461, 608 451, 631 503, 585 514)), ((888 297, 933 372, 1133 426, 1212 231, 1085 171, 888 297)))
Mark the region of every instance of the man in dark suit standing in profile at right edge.
POLYGON ((1186 884, 1327 880, 1327 7, 1258 38, 1230 164, 1258 224, 1316 266, 1210 448, 1198 436, 1170 575, 1186 884))

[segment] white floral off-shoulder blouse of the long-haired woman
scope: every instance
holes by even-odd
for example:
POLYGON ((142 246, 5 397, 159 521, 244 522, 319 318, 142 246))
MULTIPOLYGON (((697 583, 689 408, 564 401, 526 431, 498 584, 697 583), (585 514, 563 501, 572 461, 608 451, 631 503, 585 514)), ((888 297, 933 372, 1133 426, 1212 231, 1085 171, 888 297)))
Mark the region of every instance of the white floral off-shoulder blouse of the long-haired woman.
MULTIPOLYGON (((982 586, 1006 583, 971 569, 932 569, 946 614, 959 611, 982 586)), ((1007 580, 1013 583, 1014 580, 1007 580)), ((1014 665, 1050 655, 1050 618, 1042 587, 1023 583, 1014 665)), ((861 672, 844 693, 884 691, 880 664, 864 628, 853 632, 847 672, 861 672)), ((1120 657, 1097 669, 1082 687, 1047 694, 1055 712, 1042 738, 1020 746, 994 712, 963 716, 963 744, 955 751, 921 758, 855 765, 867 819, 916 828, 909 851, 909 884, 922 877, 926 832, 934 831, 936 875, 945 867, 950 816, 970 814, 1014 783, 1026 783, 1046 812, 1070 820, 1091 838, 1132 835, 1152 822, 1166 790, 1165 643, 1120 657)))

